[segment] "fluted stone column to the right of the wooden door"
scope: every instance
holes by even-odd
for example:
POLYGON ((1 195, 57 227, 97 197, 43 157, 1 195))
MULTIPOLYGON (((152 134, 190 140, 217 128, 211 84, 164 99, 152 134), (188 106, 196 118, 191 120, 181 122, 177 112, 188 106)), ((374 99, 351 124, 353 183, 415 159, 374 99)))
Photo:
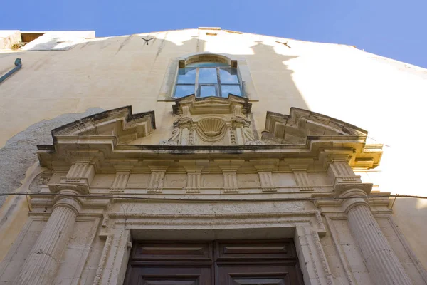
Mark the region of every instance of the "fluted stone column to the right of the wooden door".
MULTIPOLYGON (((344 196, 351 197, 352 195, 348 195, 349 193, 362 194, 360 190, 349 190, 344 196)), ((352 235, 359 244, 365 264, 375 284, 412 284, 372 215, 369 204, 364 199, 353 198, 347 199, 344 206, 347 207, 346 212, 352 235)))

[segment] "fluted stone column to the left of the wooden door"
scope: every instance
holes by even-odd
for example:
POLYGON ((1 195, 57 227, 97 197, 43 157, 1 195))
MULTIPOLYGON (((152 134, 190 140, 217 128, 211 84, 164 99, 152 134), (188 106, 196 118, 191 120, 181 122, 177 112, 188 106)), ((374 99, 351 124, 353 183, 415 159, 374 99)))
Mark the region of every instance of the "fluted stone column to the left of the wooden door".
POLYGON ((79 209, 76 199, 62 197, 56 202, 14 284, 52 284, 79 209))

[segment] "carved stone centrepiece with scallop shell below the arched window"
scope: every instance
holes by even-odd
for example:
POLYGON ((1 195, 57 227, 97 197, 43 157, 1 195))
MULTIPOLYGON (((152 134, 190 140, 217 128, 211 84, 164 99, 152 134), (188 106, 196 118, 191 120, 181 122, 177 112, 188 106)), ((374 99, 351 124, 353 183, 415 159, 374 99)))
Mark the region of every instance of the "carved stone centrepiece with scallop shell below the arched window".
POLYGON ((172 136, 164 145, 260 145, 251 130, 247 98, 196 98, 189 95, 175 100, 172 106, 179 118, 172 136))

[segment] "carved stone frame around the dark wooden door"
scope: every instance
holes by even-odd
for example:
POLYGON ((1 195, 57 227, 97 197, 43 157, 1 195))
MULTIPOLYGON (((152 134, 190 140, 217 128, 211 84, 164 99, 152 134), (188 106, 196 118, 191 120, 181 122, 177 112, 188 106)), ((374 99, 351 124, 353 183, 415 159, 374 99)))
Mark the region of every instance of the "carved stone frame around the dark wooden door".
POLYGON ((182 214, 174 219, 162 214, 109 214, 102 225, 105 239, 94 284, 122 284, 132 248, 132 239, 283 239, 293 238, 306 285, 333 284, 332 274, 319 234, 325 227, 317 211, 219 214, 182 214), (213 223, 212 219, 216 219, 213 223), (238 223, 233 222, 238 219, 238 223), (172 234, 173 233, 173 234, 172 234), (100 266, 101 268, 101 266, 100 266))

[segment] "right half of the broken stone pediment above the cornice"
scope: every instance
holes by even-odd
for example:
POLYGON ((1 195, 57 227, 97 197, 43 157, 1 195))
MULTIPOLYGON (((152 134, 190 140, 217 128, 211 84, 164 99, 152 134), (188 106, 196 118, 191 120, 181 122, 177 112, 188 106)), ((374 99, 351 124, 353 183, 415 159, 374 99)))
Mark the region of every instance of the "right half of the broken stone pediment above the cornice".
POLYGON ((262 141, 267 144, 304 144, 307 137, 357 136, 367 131, 309 110, 290 108, 290 115, 267 112, 262 141))

